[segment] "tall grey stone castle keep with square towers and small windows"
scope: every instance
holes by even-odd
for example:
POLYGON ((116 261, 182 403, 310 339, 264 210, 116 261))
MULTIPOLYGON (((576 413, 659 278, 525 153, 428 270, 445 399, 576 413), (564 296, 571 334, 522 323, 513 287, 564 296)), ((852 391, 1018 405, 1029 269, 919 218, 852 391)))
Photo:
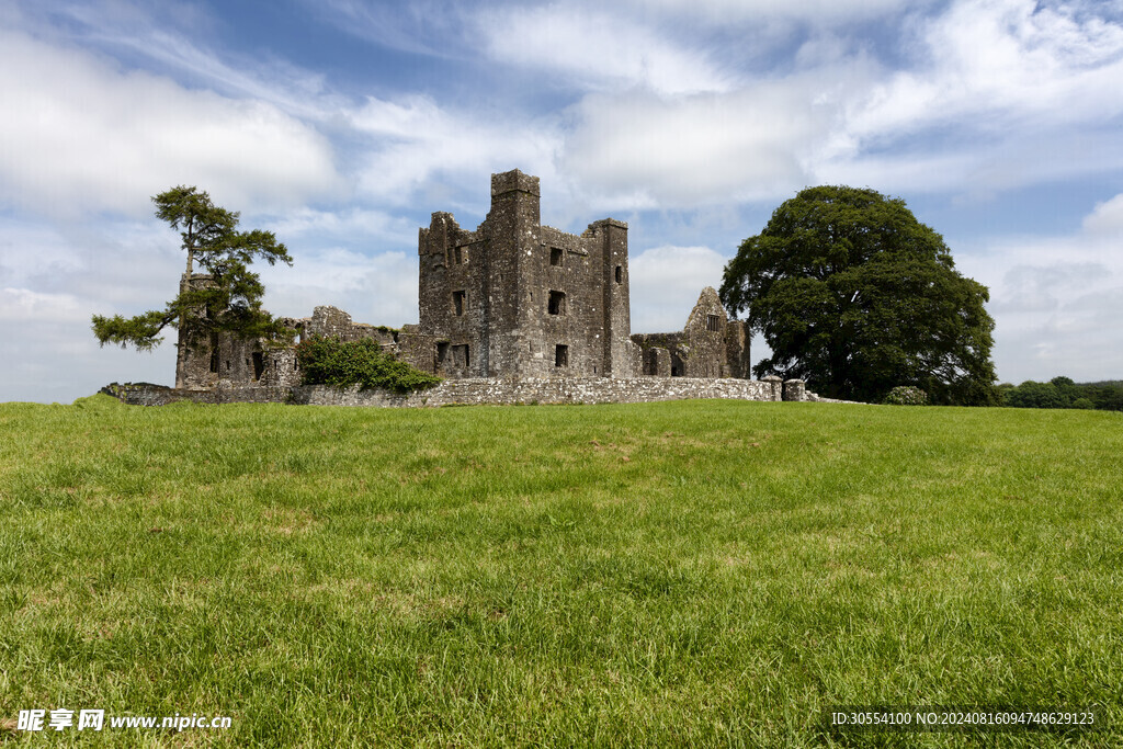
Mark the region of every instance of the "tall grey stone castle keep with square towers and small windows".
POLYGON ((413 366, 445 377, 629 377, 628 225, 604 219, 572 235, 540 220, 538 177, 492 175, 475 231, 432 214, 418 235, 420 322, 399 344, 413 366))

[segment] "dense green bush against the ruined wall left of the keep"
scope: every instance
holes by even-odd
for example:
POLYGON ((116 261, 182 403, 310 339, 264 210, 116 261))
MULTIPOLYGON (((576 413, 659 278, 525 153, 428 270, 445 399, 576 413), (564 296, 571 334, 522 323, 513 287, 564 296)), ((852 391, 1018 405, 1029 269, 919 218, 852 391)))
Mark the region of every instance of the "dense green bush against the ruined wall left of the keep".
POLYGON ((312 336, 296 345, 301 383, 383 387, 398 393, 431 387, 440 377, 411 367, 382 350, 377 341, 312 336))

